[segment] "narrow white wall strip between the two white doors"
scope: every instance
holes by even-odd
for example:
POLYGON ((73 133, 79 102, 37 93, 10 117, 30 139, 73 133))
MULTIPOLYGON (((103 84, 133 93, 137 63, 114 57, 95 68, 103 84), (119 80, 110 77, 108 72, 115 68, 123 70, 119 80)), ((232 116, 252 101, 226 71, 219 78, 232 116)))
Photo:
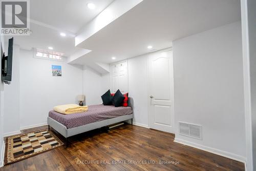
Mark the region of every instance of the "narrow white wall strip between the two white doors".
POLYGON ((133 99, 134 123, 148 127, 147 55, 128 60, 129 97, 133 99))

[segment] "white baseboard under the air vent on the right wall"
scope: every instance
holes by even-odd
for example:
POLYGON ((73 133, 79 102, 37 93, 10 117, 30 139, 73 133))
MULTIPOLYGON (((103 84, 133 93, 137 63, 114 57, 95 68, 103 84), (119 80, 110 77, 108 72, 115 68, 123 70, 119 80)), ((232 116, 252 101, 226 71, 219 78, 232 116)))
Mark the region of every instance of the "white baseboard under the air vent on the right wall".
POLYGON ((174 142, 184 144, 184 145, 187 145, 187 146, 190 146, 190 147, 198 148, 198 149, 207 151, 209 153, 213 153, 213 154, 216 154, 216 155, 219 155, 219 156, 222 156, 222 157, 226 157, 226 158, 229 158, 229 159, 232 159, 232 160, 242 162, 242 163, 245 164, 245 167, 246 167, 246 158, 243 157, 243 156, 236 155, 236 154, 233 154, 233 153, 229 153, 227 151, 223 151, 223 150, 220 150, 220 149, 217 149, 217 148, 212 148, 212 147, 204 146, 204 145, 201 145, 201 144, 189 142, 189 141, 182 140, 182 139, 179 139, 179 138, 175 138, 174 142))

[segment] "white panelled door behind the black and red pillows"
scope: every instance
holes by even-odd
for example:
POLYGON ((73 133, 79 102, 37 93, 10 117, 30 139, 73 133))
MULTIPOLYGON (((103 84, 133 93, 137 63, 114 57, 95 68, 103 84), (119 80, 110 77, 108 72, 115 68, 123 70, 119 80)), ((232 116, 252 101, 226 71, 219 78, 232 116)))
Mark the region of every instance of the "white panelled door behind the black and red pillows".
POLYGON ((128 67, 127 61, 111 65, 111 92, 120 90, 128 92, 128 67))

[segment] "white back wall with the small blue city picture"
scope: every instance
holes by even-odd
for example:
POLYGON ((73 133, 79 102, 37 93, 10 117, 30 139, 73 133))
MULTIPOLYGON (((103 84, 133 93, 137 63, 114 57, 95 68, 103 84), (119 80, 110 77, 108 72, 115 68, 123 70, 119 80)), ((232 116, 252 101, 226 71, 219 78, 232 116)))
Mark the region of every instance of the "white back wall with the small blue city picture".
POLYGON ((78 103, 82 79, 80 66, 35 59, 33 51, 20 49, 20 128, 47 123, 56 105, 78 103), (52 65, 61 65, 61 77, 52 76, 52 65))

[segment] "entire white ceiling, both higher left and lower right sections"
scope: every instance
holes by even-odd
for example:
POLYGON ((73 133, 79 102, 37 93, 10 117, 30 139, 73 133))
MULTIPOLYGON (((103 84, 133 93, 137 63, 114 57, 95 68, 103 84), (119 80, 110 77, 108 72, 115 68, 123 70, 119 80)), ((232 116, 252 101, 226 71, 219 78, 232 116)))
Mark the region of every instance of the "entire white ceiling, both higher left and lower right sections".
POLYGON ((33 33, 15 36, 14 43, 22 49, 52 46, 65 56, 78 48, 89 49, 92 51, 70 64, 94 67, 171 47, 174 40, 241 20, 239 0, 144 0, 75 47, 80 29, 113 1, 32 0, 33 33), (91 2, 95 10, 87 8, 91 2), (61 37, 60 32, 67 36, 61 37), (153 48, 147 49, 148 45, 153 48), (116 60, 111 59, 113 56, 116 60))

